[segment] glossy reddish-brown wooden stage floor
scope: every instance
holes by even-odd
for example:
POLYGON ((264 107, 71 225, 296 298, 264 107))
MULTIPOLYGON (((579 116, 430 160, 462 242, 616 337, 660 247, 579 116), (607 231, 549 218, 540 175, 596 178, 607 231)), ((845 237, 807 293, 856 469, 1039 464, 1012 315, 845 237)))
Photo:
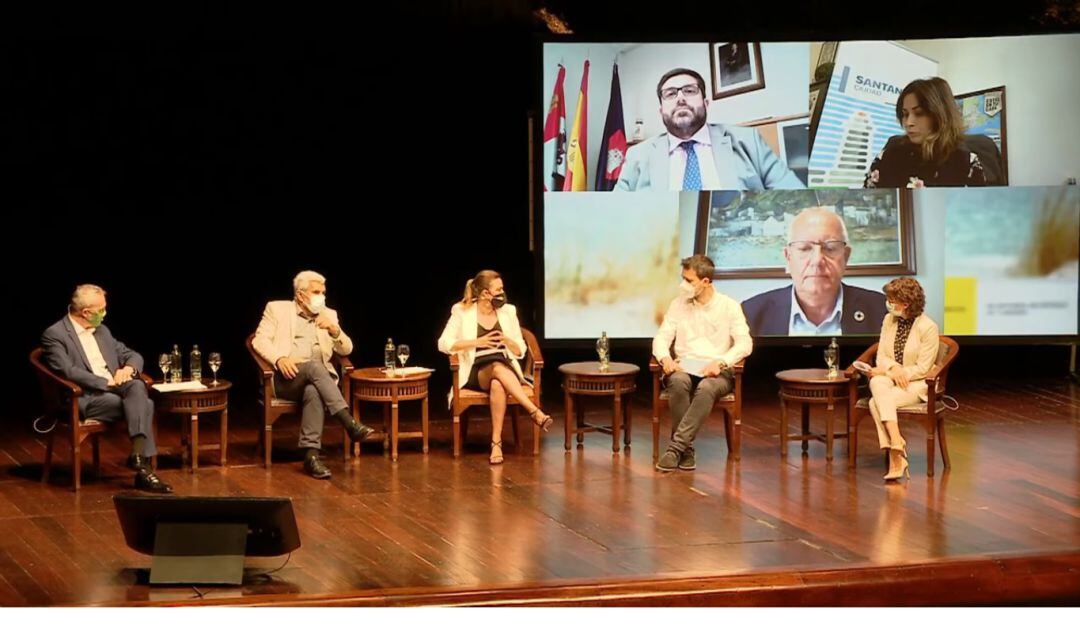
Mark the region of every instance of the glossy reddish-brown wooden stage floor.
MULTIPOLYGON (((954 385, 953 470, 939 459, 927 477, 923 435, 907 424, 903 485, 882 482, 868 418, 856 468, 842 440, 832 463, 816 443, 807 457, 792 444, 782 462, 768 386, 748 391, 741 462, 728 461, 716 413, 699 436, 698 470, 670 475, 652 468, 644 397, 621 454, 598 433, 565 453, 556 413, 539 457, 508 447, 496 467, 486 420, 473 420, 457 461, 444 418, 427 457, 413 440, 396 464, 376 447, 349 465, 328 423, 329 481, 301 474, 293 422, 275 427, 272 472, 256 465, 256 418, 233 410, 228 468, 204 453, 197 474, 164 459, 161 475, 181 495, 291 497, 302 547, 273 574, 260 573, 285 558, 251 559, 242 587, 201 596, 150 588, 150 558, 123 544, 111 502, 131 481, 122 434, 103 444, 104 477, 87 476, 76 494, 66 456, 43 486, 42 441, 29 423, 6 423, 0 606, 1080 603, 1080 389, 954 385)), ((562 404, 558 393, 548 399, 562 404)), ((591 420, 604 416, 591 409, 591 420)), ((216 437, 206 421, 204 440, 216 437)), ((165 444, 176 432, 163 427, 165 444)))

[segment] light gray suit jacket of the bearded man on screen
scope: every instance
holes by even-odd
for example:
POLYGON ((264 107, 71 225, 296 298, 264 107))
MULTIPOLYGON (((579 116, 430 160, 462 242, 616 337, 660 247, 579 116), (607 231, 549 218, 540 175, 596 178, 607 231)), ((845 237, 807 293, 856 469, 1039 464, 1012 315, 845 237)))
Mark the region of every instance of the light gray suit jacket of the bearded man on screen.
MULTIPOLYGON (((805 189, 806 185, 772 152, 757 131, 746 126, 708 124, 713 161, 720 178, 717 190, 764 191, 805 189)), ((669 135, 662 133, 634 145, 619 175, 617 191, 667 191, 669 135)))

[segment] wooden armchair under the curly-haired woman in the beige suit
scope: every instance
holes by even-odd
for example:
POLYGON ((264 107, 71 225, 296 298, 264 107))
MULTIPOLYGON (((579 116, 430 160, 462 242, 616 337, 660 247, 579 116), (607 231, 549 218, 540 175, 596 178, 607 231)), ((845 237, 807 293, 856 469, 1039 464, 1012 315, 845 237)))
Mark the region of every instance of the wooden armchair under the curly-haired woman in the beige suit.
MULTIPOLYGON (((934 435, 937 436, 939 446, 942 449, 942 462, 945 470, 949 470, 951 464, 948 459, 948 446, 945 444, 945 403, 939 399, 945 394, 945 382, 948 379, 948 368, 960 352, 960 345, 956 340, 945 336, 939 336, 937 359, 934 366, 927 373, 927 402, 913 406, 904 406, 896 409, 896 418, 903 420, 905 417, 921 420, 927 431, 927 476, 934 475, 934 435), (933 409, 930 409, 933 407, 933 409)), ((870 348, 859 356, 859 362, 865 362, 874 366, 877 355, 878 342, 870 344, 870 348)), ((848 423, 851 424, 851 463, 854 463, 859 450, 859 421, 869 414, 869 397, 859 398, 858 384, 859 372, 854 365, 849 366, 845 373, 848 376, 848 423)))

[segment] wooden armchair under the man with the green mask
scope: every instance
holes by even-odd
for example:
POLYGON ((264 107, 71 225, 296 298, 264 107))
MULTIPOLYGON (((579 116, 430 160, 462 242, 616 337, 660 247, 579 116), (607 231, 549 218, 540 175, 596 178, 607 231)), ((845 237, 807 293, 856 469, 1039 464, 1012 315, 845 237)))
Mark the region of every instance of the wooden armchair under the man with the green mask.
MULTIPOLYGON (((42 467, 41 481, 49 482, 49 474, 53 466, 53 444, 56 429, 68 431, 71 445, 71 479, 76 491, 82 487, 82 445, 90 439, 94 459, 94 476, 102 475, 102 453, 98 435, 108 430, 108 423, 96 419, 84 420, 79 414, 79 397, 82 397, 82 386, 55 372, 42 361, 42 350, 37 348, 30 352, 30 366, 38 376, 41 386, 41 397, 45 405, 45 414, 56 419, 55 426, 45 435, 45 463, 42 467)), ((153 383, 148 375, 139 373, 139 379, 147 386, 153 383)), ((121 420, 117 422, 123 424, 121 420)), ((157 434, 157 422, 154 422, 157 434)))

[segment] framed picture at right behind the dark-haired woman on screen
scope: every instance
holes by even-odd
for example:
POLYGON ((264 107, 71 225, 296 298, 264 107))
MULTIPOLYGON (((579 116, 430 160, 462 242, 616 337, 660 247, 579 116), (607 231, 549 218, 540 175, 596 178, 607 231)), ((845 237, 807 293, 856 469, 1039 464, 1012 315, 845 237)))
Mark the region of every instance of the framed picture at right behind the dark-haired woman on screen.
POLYGON ((960 107, 967 135, 966 141, 978 155, 986 172, 986 181, 994 186, 1009 185, 1008 131, 1005 128, 1005 87, 994 86, 955 96, 960 107), (994 141, 999 158, 986 138, 994 141))

